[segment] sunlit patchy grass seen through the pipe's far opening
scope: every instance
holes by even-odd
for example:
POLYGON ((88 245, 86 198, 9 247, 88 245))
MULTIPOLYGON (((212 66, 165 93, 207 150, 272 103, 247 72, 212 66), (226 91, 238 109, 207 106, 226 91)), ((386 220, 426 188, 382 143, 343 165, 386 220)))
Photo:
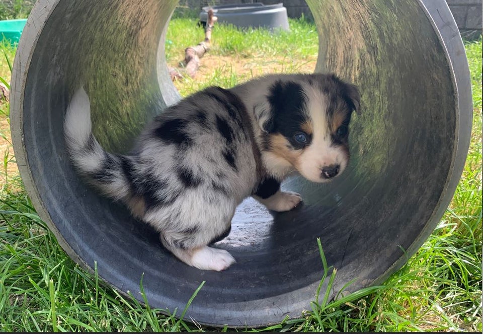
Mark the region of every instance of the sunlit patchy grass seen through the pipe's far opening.
MULTIPOLYGON (((173 68, 178 68, 187 46, 204 39, 204 30, 196 28, 197 22, 198 19, 193 18, 170 22, 166 58, 173 68)), ((264 29, 240 30, 232 25, 215 24, 211 49, 201 59, 197 78, 184 78, 181 83, 176 83, 176 87, 182 96, 186 96, 212 85, 232 87, 265 74, 267 69, 279 73, 313 72, 318 52, 317 38, 315 26, 304 18, 290 19, 290 32, 276 34, 264 29), (230 63, 213 65, 213 57, 226 57, 222 59, 228 59, 226 61, 230 63), (245 64, 245 68, 240 68, 240 64, 245 64)))

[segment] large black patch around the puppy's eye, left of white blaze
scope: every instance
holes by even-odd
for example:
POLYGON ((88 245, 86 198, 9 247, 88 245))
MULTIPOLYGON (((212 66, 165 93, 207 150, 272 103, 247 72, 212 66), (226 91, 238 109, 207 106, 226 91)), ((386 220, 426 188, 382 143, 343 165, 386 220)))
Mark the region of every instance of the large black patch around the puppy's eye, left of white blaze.
MULTIPOLYGON (((277 81, 270 88, 267 99, 271 110, 264 129, 269 133, 280 133, 295 149, 310 145, 310 133, 307 133, 307 142, 303 144, 294 139, 296 133, 303 132, 301 126, 307 120, 303 114, 305 97, 302 86, 292 81, 277 81)), ((269 136, 264 146, 270 147, 269 136)))

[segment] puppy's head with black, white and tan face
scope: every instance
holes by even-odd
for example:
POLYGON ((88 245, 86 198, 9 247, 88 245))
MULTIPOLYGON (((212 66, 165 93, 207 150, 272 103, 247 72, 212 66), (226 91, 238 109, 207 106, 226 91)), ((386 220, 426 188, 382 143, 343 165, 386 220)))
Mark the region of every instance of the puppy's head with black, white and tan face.
POLYGON ((255 107, 263 130, 262 152, 279 160, 278 165, 290 164, 310 181, 327 182, 349 162, 353 111, 360 114, 359 91, 334 75, 276 80, 267 101, 255 107))

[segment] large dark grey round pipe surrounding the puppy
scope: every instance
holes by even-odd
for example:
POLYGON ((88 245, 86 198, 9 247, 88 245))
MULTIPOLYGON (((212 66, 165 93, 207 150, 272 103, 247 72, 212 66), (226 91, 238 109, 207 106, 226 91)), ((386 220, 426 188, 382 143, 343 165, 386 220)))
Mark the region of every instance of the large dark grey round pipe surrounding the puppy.
POLYGON ((216 273, 167 253, 153 230, 87 186, 64 150, 62 120, 80 83, 95 136, 113 152, 179 99, 164 52, 177 1, 37 2, 15 58, 12 136, 32 202, 70 257, 91 269, 97 261, 102 279, 140 300, 144 274, 151 307, 170 311, 206 281, 187 319, 258 326, 310 309, 323 270, 317 237, 338 269, 334 293, 352 280, 348 291, 381 283, 416 252, 450 203, 469 146, 469 71, 453 17, 443 0, 307 3, 316 71, 362 92, 351 164, 330 184, 288 179, 282 188, 304 198, 293 211, 247 199, 217 244, 237 263, 216 273))

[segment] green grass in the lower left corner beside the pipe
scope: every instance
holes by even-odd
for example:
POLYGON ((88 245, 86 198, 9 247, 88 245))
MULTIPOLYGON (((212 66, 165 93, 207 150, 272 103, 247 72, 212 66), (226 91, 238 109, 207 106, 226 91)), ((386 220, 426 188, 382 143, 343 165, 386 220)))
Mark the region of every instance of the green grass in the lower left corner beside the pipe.
POLYGON ((174 316, 158 321, 155 310, 126 300, 81 270, 60 249, 25 192, 5 195, 1 207, 2 332, 170 331, 186 326, 174 316))

